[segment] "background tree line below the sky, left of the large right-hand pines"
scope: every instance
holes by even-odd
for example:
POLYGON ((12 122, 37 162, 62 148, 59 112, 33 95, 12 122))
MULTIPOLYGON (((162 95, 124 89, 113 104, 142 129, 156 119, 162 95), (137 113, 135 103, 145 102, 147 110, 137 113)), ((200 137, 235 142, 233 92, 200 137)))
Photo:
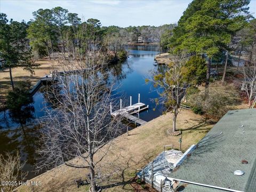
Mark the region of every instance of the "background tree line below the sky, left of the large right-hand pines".
MULTIPOLYGON (((33 12, 33 19, 29 22, 9 21, 7 15, 0 14, 0 58, 3 59, 2 68, 9 68, 11 85, 14 89, 12 79, 12 68, 23 67, 33 73, 33 63, 39 58, 49 57, 53 53, 63 53, 65 57, 75 57, 68 49, 79 44, 78 36, 86 36, 84 26, 87 30, 94 31, 93 41, 108 50, 110 61, 123 60, 126 58, 125 45, 129 42, 135 43, 141 36, 145 42, 161 42, 164 33, 170 33, 174 25, 138 26, 125 27, 101 26, 98 19, 87 19, 83 21, 77 13, 70 13, 62 7, 53 9, 39 9, 33 12)), ((90 33, 91 34, 91 33, 90 33)), ((166 46, 165 41, 163 41, 166 46)), ((75 51, 73 50, 73 53, 75 51)))

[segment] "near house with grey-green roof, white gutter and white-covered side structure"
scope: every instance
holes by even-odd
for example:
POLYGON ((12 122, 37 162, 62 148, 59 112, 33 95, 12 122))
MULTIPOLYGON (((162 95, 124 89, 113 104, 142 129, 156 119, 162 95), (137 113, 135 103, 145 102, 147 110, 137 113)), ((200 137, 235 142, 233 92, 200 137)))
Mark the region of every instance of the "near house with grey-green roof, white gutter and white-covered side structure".
MULTIPOLYGON (((155 188, 161 189, 161 182, 157 181, 161 180, 162 191, 256 191, 255 119, 256 109, 228 111, 195 147, 191 146, 186 155, 177 160, 178 163, 166 166, 165 159, 162 168, 158 165, 149 174, 146 172, 150 169, 146 169, 139 176, 143 172, 145 177, 154 175, 155 188)), ((151 184, 150 179, 146 181, 151 184)))

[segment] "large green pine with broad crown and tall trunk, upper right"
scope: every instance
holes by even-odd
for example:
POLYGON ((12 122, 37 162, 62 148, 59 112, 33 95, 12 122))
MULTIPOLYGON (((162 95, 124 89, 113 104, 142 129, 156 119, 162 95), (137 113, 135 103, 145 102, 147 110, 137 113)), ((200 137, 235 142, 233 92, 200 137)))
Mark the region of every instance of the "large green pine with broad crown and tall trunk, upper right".
POLYGON ((249 3, 249 0, 195 0, 174 30, 171 43, 174 51, 207 55, 206 87, 210 81, 212 57, 229 50, 231 38, 250 18, 249 3))

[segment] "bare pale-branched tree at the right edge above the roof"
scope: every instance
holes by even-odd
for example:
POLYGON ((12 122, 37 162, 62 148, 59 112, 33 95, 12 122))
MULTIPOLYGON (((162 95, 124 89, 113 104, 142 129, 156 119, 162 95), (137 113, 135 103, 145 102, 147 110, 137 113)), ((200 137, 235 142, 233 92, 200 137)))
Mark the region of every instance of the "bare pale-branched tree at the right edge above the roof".
POLYGON ((254 108, 256 103, 256 62, 243 68, 242 90, 246 92, 249 108, 254 108))

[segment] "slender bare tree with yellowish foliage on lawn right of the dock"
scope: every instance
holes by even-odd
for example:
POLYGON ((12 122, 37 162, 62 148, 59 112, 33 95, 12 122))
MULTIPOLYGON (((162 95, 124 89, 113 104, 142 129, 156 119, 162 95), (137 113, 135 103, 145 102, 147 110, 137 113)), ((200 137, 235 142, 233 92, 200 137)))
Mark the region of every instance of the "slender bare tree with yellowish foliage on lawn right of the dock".
POLYGON ((165 112, 173 114, 172 132, 176 131, 176 120, 180 112, 180 105, 186 94, 187 83, 183 78, 185 63, 188 58, 185 54, 172 55, 170 65, 164 73, 153 72, 153 78, 147 79, 157 87, 159 97, 155 99, 157 105, 165 106, 165 112))

